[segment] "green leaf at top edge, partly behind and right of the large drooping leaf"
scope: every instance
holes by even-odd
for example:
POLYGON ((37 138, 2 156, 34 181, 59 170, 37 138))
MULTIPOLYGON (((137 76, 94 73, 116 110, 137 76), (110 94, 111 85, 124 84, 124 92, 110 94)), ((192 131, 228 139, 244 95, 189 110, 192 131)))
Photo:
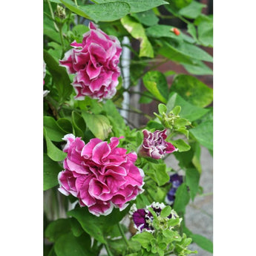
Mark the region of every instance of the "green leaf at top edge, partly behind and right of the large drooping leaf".
MULTIPOLYGON (((109 3, 116 0, 96 0, 97 3, 109 3)), ((140 13, 145 10, 150 10, 154 7, 160 6, 162 4, 168 4, 167 1, 163 0, 123 0, 125 3, 129 4, 131 7, 131 13, 140 13)))

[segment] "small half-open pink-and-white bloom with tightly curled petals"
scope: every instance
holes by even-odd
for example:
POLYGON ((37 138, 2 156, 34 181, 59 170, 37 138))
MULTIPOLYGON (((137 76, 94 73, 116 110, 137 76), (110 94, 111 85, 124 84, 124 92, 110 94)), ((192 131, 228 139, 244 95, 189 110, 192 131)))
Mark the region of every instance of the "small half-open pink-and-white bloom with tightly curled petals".
POLYGON ((165 154, 170 154, 177 151, 170 142, 166 142, 166 130, 154 131, 153 133, 148 130, 142 131, 144 139, 139 148, 139 154, 142 157, 151 157, 154 159, 161 159, 165 154))

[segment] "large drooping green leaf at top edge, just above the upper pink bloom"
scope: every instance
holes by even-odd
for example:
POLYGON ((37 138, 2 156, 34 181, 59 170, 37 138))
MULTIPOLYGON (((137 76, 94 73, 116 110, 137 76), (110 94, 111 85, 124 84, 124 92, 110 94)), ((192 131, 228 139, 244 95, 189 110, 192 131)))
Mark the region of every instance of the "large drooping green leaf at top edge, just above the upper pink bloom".
POLYGON ((102 4, 76 5, 72 0, 60 0, 68 9, 95 22, 112 22, 130 12, 129 4, 123 1, 105 1, 102 4))

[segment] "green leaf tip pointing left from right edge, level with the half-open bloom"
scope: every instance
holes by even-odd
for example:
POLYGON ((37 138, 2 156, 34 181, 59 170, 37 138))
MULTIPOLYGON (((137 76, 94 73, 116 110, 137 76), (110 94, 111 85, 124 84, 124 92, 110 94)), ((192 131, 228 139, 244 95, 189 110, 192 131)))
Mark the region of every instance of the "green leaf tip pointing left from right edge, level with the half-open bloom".
POLYGON ((213 150, 213 120, 202 122, 189 131, 201 145, 213 150))

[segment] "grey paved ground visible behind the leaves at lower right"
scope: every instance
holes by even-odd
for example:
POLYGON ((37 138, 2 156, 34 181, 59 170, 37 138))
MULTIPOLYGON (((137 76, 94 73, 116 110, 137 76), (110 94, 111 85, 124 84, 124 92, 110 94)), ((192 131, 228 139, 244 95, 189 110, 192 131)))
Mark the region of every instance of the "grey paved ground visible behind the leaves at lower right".
MULTIPOLYGON (((177 160, 174 156, 168 157, 166 165, 177 168, 177 160)), ((200 186, 203 187, 203 193, 209 194, 204 197, 196 197, 193 203, 186 207, 186 226, 194 234, 201 234, 209 240, 213 240, 213 159, 206 148, 201 149, 202 174, 200 177, 200 186)), ((189 247, 191 250, 197 250, 197 256, 212 256, 210 252, 201 249, 193 243, 189 247)))

